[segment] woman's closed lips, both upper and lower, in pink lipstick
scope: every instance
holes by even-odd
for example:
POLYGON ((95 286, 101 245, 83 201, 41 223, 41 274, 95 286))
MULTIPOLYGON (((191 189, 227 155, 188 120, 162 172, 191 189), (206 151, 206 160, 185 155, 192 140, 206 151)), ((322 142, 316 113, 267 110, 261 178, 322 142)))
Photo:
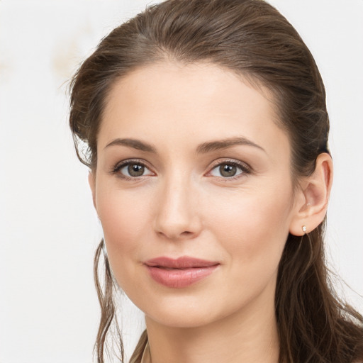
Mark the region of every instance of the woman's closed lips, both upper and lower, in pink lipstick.
POLYGON ((157 257, 145 262, 152 279, 167 287, 182 288, 208 277, 219 263, 193 257, 157 257))

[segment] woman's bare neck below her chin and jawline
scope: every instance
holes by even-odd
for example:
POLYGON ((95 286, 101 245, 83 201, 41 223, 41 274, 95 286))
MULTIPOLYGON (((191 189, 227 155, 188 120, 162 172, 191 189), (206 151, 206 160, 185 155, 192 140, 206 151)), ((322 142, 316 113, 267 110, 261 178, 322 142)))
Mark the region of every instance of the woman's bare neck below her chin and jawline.
POLYGON ((277 363, 274 301, 261 299, 208 325, 179 328, 146 317, 152 363, 277 363))

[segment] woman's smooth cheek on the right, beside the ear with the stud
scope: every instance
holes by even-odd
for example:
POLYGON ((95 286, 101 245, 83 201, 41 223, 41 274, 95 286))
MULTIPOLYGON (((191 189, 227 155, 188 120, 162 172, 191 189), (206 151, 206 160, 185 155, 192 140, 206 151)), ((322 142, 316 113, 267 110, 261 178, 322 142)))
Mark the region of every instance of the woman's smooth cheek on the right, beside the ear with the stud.
POLYGON ((292 193, 286 189, 260 189, 220 199, 233 203, 218 203, 210 225, 218 226, 215 234, 231 260, 252 269, 279 263, 291 219, 292 193))

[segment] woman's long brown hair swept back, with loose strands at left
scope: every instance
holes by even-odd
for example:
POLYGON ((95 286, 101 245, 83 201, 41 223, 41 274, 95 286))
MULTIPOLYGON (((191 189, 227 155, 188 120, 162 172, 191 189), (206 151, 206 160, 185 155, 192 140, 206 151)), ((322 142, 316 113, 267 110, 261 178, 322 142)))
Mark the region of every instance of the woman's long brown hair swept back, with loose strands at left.
MULTIPOLYGON (((71 82, 69 123, 79 160, 96 169, 97 134, 113 84, 155 62, 208 62, 272 92, 291 140, 293 179, 308 176, 328 151, 325 88, 311 52, 293 26, 262 0, 168 0, 148 7, 106 36, 71 82)), ((325 264, 325 220, 315 230, 289 235, 279 263, 275 297, 279 362, 345 363, 363 359, 363 318, 337 298, 325 264)), ((116 308, 116 287, 106 253, 99 282, 101 241, 94 259, 101 322, 96 338, 104 362, 106 335, 116 308)), ((121 336, 116 338, 123 347, 121 336)), ((140 338, 140 362, 147 335, 140 338)))

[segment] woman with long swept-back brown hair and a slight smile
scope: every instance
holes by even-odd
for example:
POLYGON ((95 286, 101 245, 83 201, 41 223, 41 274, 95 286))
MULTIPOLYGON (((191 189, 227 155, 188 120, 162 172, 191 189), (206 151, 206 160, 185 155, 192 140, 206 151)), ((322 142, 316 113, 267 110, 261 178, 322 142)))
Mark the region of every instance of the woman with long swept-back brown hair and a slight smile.
POLYGON ((150 7, 80 67, 70 125, 104 229, 99 362, 118 286, 145 313, 131 362, 363 359, 324 263, 323 82, 272 6, 150 7))

